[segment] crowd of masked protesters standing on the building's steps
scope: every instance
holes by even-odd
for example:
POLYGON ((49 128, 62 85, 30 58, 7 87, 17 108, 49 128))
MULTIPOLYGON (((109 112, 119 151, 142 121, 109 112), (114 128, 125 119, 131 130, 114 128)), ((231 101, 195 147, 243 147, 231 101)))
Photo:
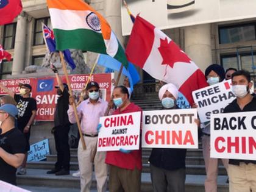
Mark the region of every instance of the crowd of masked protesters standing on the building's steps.
MULTIPOLYGON (((76 123, 74 98, 69 96, 68 86, 63 84, 57 69, 53 68, 58 86, 55 87, 59 98, 54 114, 54 128, 57 162, 47 174, 56 176, 69 174, 70 151, 68 132, 71 124, 76 123)), ((231 79, 232 90, 236 96, 224 108, 224 113, 256 111, 256 96, 252 93, 250 73, 229 68, 224 71, 220 65, 210 65, 205 69, 205 79, 208 85, 215 85, 223 80, 231 79)), ((127 79, 126 79, 127 80, 127 79)), ((127 82, 125 82, 127 85, 127 82)), ((28 84, 20 85, 20 95, 0 85, 9 96, 1 98, 0 121, 0 180, 16 184, 16 168, 18 174, 26 174, 26 155, 29 150, 30 127, 35 118, 37 105, 35 99, 30 98, 32 87, 28 84), (16 105, 16 107, 15 107, 16 105), (18 128, 18 129, 17 129, 18 128)), ((127 86, 113 88, 112 101, 107 102, 100 98, 99 84, 89 82, 85 90, 88 98, 77 105, 82 135, 86 149, 83 149, 79 140, 77 151, 80 189, 88 192, 91 189, 93 171, 96 177, 97 190, 104 192, 108 188, 111 192, 137 192, 141 191, 141 147, 138 150, 120 148, 119 151, 97 151, 98 133, 101 132, 99 118, 107 115, 119 115, 131 112, 142 112, 142 109, 130 101, 130 91, 127 86), (109 177, 108 177, 109 176, 109 177)), ((158 97, 163 110, 178 109, 178 89, 173 84, 163 85, 158 97)), ((197 104, 192 106, 197 108, 197 104)), ((182 110, 182 109, 181 109, 182 110)), ((218 158, 210 157, 210 122, 200 123, 194 119, 202 130, 202 148, 205 162, 205 191, 218 191, 218 158)), ((142 129, 141 125, 140 129, 142 129)), ((185 191, 186 179, 186 149, 152 149, 149 157, 152 187, 155 192, 185 191)), ((256 191, 256 161, 221 159, 226 168, 229 179, 230 192, 256 191)))

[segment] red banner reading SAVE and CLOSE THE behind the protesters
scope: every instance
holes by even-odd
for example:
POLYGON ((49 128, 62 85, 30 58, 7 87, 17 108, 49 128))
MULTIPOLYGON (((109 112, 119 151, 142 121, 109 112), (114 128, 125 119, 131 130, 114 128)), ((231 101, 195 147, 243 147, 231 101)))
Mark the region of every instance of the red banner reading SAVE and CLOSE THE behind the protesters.
MULTIPOLYGON (((63 82, 66 82, 64 76, 60 76, 63 82)), ((88 74, 76 74, 70 75, 69 80, 71 82, 71 88, 77 101, 80 97, 80 92, 85 87, 88 80, 88 74)), ((111 80, 113 79, 112 73, 104 74, 93 74, 91 76, 92 81, 99 83, 101 90, 101 98, 109 101, 112 90, 111 80)), ((55 105, 57 104, 57 93, 54 88, 57 85, 57 80, 54 76, 43 77, 43 78, 27 78, 27 79, 7 79, 0 80, 0 84, 11 89, 15 93, 19 93, 19 83, 30 84, 32 86, 31 97, 37 101, 37 121, 53 121, 55 105)), ((0 94, 6 94, 0 90, 0 94)))

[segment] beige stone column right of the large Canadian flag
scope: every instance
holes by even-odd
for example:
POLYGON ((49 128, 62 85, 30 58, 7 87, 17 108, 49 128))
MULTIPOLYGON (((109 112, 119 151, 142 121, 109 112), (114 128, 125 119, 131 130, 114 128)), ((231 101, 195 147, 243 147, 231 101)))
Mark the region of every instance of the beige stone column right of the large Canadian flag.
POLYGON ((204 72, 212 64, 210 24, 184 27, 185 52, 204 72))

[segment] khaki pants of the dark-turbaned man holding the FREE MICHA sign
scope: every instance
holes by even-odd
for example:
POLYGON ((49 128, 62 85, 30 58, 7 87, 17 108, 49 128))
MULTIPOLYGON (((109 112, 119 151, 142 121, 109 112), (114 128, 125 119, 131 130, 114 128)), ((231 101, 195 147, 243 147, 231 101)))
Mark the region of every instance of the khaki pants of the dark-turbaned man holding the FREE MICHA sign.
MULTIPOLYGON (((202 137, 206 179, 204 182, 205 192, 217 192, 218 158, 210 158, 210 137, 202 137)), ((228 159, 222 158, 222 163, 228 171, 228 159)))

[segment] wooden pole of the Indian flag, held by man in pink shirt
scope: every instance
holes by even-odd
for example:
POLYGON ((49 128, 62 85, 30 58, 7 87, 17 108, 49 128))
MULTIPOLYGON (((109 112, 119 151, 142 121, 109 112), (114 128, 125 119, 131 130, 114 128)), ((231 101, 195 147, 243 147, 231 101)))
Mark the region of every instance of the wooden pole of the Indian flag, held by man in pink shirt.
MULTIPOLYGON (((60 54, 60 60, 62 62, 62 68, 63 68, 64 74, 65 74, 65 77, 66 77, 66 82, 68 84, 69 97, 72 97, 73 94, 72 94, 72 90, 71 90, 71 84, 70 84, 70 81, 69 81, 69 78, 68 78, 68 71, 66 70, 66 64, 65 64, 65 61, 64 61, 64 58, 63 58, 63 54, 62 54, 61 51, 59 52, 59 54, 60 54)), ((86 145, 85 145, 85 140, 84 140, 84 137, 83 137, 83 134, 82 134, 80 121, 79 121, 79 118, 78 118, 78 115, 77 115, 76 101, 73 102, 72 106, 73 106, 73 109, 74 109, 74 115, 76 117, 76 123, 77 123, 77 127, 78 127, 78 130, 79 130, 79 135, 80 135, 80 139, 81 139, 81 142, 82 142, 82 146, 83 146, 83 149, 85 150, 86 145)))

